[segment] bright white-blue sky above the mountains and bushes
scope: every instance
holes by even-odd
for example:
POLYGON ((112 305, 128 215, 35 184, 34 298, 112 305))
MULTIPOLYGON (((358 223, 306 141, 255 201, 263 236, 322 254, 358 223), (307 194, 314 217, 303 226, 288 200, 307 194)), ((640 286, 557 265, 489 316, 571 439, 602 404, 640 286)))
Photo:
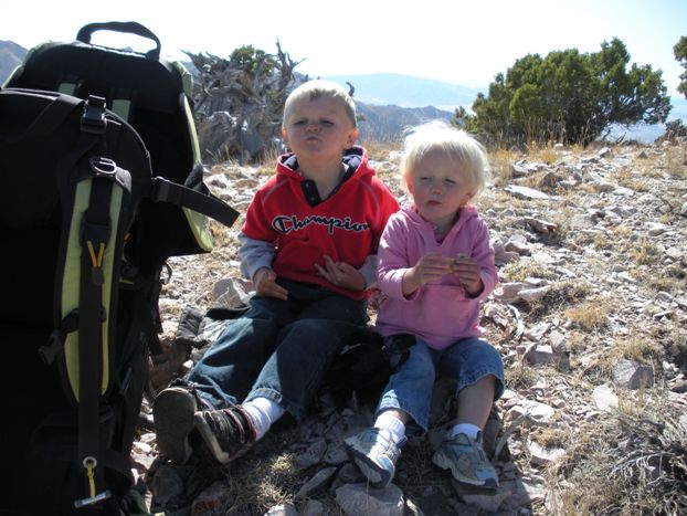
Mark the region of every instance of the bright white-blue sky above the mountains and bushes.
MULTIPOLYGON (((29 49, 73 41, 82 25, 137 21, 182 51, 229 57, 252 44, 276 53, 276 42, 311 77, 401 73, 486 91, 497 73, 538 53, 598 52, 625 43, 631 63, 663 71, 670 96, 685 69, 673 46, 687 35, 686 0, 0 0, 0 40, 29 49)), ((96 32, 93 43, 145 52, 149 40, 96 32)))

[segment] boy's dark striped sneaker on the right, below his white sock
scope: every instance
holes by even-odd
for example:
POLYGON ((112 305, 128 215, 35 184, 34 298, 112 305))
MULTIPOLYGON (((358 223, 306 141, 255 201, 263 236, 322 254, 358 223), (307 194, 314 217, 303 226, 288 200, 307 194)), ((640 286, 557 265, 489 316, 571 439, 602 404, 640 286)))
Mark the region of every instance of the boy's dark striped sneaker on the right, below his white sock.
POLYGON ((221 464, 243 455, 255 443, 255 423, 240 404, 195 412, 194 419, 203 441, 221 464))

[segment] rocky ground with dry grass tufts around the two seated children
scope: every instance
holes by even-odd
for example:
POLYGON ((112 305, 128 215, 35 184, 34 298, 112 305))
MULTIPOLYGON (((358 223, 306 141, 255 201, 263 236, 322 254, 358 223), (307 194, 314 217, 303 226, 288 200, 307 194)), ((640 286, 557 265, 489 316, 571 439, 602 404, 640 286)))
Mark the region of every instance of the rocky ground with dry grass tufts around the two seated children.
MULTIPOLYGON (((372 149, 372 158, 403 200, 395 152, 372 149)), ((391 486, 368 488, 341 442, 371 422, 372 407, 355 397, 339 407, 323 392, 300 425, 277 425, 226 468, 202 451, 187 466, 166 463, 141 424, 133 456, 151 512, 687 513, 687 144, 553 146, 490 161, 494 185, 478 208, 500 276, 483 319, 507 369, 486 429, 499 489, 468 491, 436 470, 434 433, 404 449, 391 486)), ((226 164, 207 182, 244 212, 271 173, 272 165, 226 164)), ((236 305, 250 291, 239 277, 240 225, 212 225, 212 253, 170 261, 156 389, 203 350, 175 338, 184 309, 236 305)), ((437 383, 435 425, 446 419, 450 388, 437 383)))

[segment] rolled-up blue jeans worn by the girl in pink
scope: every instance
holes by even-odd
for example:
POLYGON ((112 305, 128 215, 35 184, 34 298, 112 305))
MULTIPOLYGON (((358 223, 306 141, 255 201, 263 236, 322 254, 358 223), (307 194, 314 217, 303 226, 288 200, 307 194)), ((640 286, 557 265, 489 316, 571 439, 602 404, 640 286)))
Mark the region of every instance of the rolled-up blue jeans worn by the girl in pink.
MULTIPOLYGON (((384 344, 390 344, 390 339, 391 337, 387 337, 384 344)), ((394 360, 398 362, 399 358, 400 356, 392 356, 391 365, 394 366, 394 360)), ((496 401, 504 393, 504 362, 496 348, 486 340, 465 338, 438 350, 416 339, 405 362, 389 379, 377 414, 389 409, 402 410, 426 432, 432 390, 438 377, 457 378, 457 396, 461 389, 476 383, 487 375, 496 378, 496 401)))

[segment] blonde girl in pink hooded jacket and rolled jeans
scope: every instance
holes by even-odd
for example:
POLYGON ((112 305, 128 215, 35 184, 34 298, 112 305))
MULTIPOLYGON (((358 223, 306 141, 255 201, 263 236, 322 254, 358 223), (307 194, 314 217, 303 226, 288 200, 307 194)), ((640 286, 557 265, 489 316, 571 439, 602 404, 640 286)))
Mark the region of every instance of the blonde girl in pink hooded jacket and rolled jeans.
POLYGON ((495 488, 482 430, 504 391, 504 365, 479 338, 479 307, 498 276, 487 225, 471 204, 488 176, 486 151, 466 133, 430 123, 406 138, 401 172, 413 206, 391 215, 382 233, 378 285, 388 298, 377 328, 390 348, 408 339, 413 344, 383 391, 374 427, 346 447, 372 486, 387 486, 405 425, 427 431, 434 381, 452 376, 457 414, 432 462, 458 482, 495 488))

